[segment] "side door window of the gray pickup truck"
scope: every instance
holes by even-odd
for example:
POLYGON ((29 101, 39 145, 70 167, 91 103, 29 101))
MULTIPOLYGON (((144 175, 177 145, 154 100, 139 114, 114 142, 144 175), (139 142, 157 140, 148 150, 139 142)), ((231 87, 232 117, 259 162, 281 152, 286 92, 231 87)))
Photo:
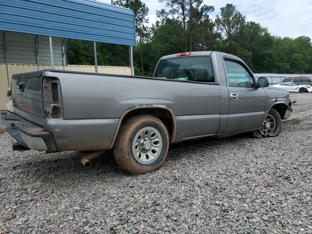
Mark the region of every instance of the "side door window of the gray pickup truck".
POLYGON ((239 62, 225 60, 230 86, 252 87, 254 78, 239 62))

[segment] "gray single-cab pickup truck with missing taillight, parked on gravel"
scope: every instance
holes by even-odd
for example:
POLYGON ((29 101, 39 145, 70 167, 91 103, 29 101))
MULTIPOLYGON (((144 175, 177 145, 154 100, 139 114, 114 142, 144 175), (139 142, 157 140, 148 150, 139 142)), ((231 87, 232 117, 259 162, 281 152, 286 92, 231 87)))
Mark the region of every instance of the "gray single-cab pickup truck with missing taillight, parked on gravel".
POLYGON ((162 57, 153 77, 17 74, 11 96, 14 114, 3 118, 15 149, 113 149, 134 174, 159 168, 169 143, 245 132, 275 137, 292 114, 287 91, 256 81, 241 59, 220 52, 162 57))

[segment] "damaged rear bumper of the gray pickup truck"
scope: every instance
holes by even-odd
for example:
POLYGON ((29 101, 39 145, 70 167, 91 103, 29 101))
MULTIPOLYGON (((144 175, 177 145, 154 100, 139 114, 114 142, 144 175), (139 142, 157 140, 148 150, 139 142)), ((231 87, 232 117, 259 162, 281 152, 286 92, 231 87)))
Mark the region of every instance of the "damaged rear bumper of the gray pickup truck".
POLYGON ((2 117, 6 125, 6 131, 17 143, 25 148, 38 151, 57 151, 51 133, 45 132, 42 127, 16 114, 2 117))

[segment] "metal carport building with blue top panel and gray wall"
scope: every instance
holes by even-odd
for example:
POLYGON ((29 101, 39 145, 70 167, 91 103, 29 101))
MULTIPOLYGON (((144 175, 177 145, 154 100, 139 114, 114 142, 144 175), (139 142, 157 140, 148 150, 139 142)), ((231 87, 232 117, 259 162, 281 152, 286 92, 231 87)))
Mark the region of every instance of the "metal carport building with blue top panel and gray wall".
POLYGON ((1 0, 0 62, 64 65, 66 39, 136 45, 130 9, 95 0, 1 0))

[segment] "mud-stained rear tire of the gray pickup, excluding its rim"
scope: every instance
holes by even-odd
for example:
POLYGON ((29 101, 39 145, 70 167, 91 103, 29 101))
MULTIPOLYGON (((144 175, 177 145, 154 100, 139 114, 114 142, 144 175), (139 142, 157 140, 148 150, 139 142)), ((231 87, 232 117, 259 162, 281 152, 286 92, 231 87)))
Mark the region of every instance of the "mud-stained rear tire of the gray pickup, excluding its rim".
POLYGON ((144 174, 155 171, 166 159, 169 148, 169 135, 163 122, 154 116, 138 115, 128 118, 120 127, 114 144, 114 156, 118 165, 132 174, 144 174), (150 164, 141 164, 132 151, 134 137, 144 127, 155 128, 162 137, 162 149, 156 160, 150 164))

